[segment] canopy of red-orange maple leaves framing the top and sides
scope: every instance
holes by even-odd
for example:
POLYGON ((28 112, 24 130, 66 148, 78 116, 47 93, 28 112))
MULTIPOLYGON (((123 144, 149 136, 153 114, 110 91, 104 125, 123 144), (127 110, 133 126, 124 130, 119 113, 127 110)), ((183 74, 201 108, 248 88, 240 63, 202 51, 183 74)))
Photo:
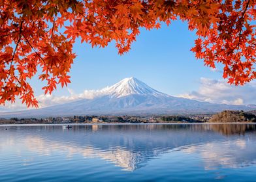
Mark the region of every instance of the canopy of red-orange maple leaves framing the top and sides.
POLYGON ((223 64, 223 77, 243 85, 256 78, 255 1, 0 0, 0 104, 20 97, 37 107, 29 85, 37 72, 45 93, 70 83, 77 38, 92 47, 114 41, 122 55, 140 27, 159 29, 175 19, 196 32, 197 59, 212 68, 223 64))

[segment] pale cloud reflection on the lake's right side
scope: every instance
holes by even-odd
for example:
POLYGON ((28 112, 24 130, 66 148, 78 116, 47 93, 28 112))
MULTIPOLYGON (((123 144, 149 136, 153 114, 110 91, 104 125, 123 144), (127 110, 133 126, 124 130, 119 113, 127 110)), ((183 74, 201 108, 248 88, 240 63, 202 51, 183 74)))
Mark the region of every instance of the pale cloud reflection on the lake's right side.
POLYGON ((253 140, 230 140, 219 142, 206 142, 204 144, 187 146, 181 149, 188 154, 196 154, 202 159, 205 170, 220 168, 242 168, 255 165, 255 148, 251 145, 253 140), (236 149, 234 149, 236 148, 236 149))

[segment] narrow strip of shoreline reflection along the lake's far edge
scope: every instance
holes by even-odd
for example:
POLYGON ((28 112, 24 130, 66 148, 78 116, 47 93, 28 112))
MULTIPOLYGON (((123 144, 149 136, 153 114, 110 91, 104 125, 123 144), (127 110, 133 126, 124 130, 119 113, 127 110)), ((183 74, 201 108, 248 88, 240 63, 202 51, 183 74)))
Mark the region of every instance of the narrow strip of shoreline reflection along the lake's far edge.
MULTIPOLYGON (((23 129, 31 129, 34 126, 22 126, 23 129)), ((20 129, 20 126, 12 127, 12 129, 20 129)), ((62 127, 59 125, 42 125, 37 126, 37 128, 45 129, 47 131, 58 131, 62 130, 62 127)), ((72 129, 69 133, 84 132, 86 133, 92 131, 103 131, 105 133, 148 133, 148 131, 154 131, 157 133, 163 134, 167 133, 176 133, 178 131, 182 132, 197 132, 204 133, 208 131, 215 131, 223 135, 244 135, 248 131, 256 131, 256 125, 253 124, 228 124, 228 123, 207 123, 207 124, 113 124, 113 125, 72 125, 72 129)), ((135 134, 134 133, 134 134, 135 134)))

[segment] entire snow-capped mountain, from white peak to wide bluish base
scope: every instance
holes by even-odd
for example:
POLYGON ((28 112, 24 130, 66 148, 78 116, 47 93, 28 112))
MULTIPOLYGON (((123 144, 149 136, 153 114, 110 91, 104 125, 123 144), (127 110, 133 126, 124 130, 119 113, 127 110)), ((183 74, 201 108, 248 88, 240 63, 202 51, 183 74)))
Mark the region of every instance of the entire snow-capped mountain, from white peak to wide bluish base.
POLYGON ((46 117, 85 114, 206 114, 221 110, 251 110, 244 105, 225 105, 177 98, 159 92, 131 77, 95 91, 93 98, 78 99, 42 109, 1 113, 1 117, 46 117))

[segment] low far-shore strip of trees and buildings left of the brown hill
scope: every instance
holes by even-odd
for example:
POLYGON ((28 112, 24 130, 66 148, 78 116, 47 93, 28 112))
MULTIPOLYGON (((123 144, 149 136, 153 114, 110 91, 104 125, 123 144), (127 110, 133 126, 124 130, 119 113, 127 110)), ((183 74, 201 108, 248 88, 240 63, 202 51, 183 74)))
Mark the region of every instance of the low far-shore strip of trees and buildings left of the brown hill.
POLYGON ((69 116, 49 118, 10 118, 0 119, 0 124, 12 123, 189 123, 207 122, 210 115, 193 116, 69 116))

